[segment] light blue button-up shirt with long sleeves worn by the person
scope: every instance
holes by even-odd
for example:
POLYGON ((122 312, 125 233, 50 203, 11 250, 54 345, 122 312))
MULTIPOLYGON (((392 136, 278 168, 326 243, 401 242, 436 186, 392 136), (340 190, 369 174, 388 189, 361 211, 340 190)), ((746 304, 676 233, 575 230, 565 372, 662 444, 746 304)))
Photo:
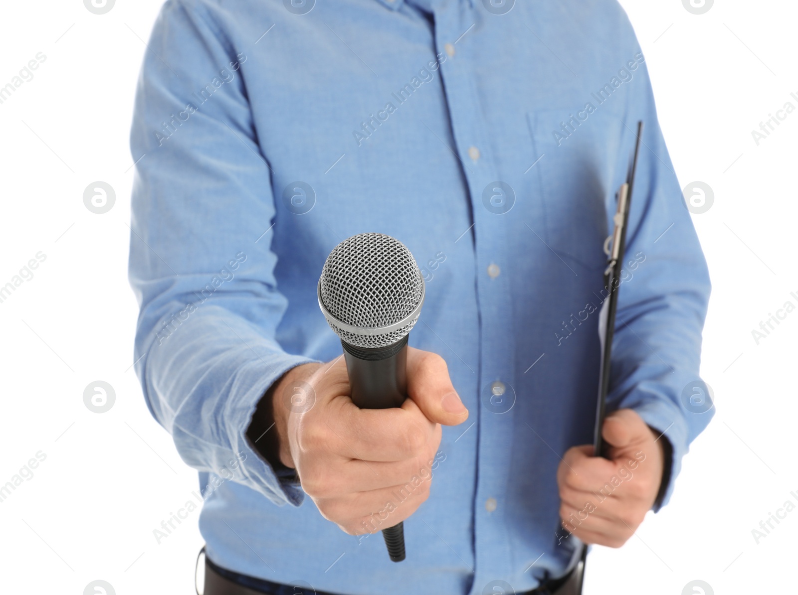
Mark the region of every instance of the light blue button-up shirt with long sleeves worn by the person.
POLYGON ((131 143, 148 407, 199 471, 219 565, 349 595, 533 589, 579 545, 558 532, 555 472, 592 441, 602 244, 638 120, 609 409, 665 432, 666 499, 712 415, 683 396, 709 278, 645 59, 614 0, 312 4, 169 0, 157 19, 131 143), (415 255, 410 345, 445 358, 471 412, 443 430, 398 565, 245 437, 283 372, 342 353, 316 282, 365 231, 415 255))

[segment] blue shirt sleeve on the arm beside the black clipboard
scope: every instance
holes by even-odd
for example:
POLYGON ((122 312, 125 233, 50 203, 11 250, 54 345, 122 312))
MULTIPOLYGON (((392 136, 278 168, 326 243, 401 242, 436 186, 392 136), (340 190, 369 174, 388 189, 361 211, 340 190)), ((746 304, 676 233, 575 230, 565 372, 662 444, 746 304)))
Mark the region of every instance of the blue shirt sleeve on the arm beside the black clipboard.
POLYGON ((672 459, 666 461, 670 479, 666 478, 658 509, 670 499, 689 443, 714 413, 713 408, 697 412, 705 408, 691 407, 683 396, 685 387, 700 380, 701 330, 710 282, 658 124, 645 64, 634 77, 623 131, 626 142, 619 156, 622 175, 638 120, 643 120, 644 130, 614 329, 608 408, 633 408, 670 442, 672 459))

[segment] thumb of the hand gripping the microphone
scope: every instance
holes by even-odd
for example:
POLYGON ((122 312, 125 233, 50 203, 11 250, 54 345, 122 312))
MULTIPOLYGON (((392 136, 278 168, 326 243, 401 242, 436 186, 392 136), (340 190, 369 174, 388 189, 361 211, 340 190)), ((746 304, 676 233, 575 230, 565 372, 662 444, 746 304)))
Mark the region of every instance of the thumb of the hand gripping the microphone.
POLYGON ((468 419, 443 357, 430 351, 407 351, 407 394, 425 417, 444 426, 456 426, 468 419))

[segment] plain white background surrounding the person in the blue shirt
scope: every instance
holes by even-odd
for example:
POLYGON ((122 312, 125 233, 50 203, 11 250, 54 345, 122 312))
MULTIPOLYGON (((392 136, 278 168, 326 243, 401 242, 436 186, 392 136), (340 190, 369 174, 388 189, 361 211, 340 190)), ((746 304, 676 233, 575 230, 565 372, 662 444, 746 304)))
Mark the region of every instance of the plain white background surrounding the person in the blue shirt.
MULTIPOLYGON (((131 367, 128 132, 160 3, 119 0, 103 15, 80 0, 3 6, 0 86, 46 56, 0 104, 0 286, 46 255, 0 303, 0 484, 36 452, 46 455, 0 502, 8 592, 78 595, 103 579, 118 595, 194 593, 199 513, 160 545, 152 530, 191 498, 196 474, 149 415, 131 367), (105 215, 83 204, 97 180, 116 191, 105 215), (83 403, 93 380, 116 392, 102 415, 83 403)), ((681 185, 703 181, 714 191, 713 206, 693 221, 713 282, 701 372, 717 414, 693 443, 670 505, 622 549, 595 548, 586 593, 679 595, 693 579, 717 594, 785 593, 796 574, 798 510, 758 544, 752 530, 793 499, 790 491, 798 498, 798 312, 759 345, 751 331, 785 301, 798 305, 790 295, 798 295, 798 112, 759 146, 751 131, 785 102, 798 107, 790 97, 798 95, 798 9, 790 0, 717 0, 696 15, 681 0, 622 4, 681 185)), ((693 592, 701 593, 685 590, 693 592)))

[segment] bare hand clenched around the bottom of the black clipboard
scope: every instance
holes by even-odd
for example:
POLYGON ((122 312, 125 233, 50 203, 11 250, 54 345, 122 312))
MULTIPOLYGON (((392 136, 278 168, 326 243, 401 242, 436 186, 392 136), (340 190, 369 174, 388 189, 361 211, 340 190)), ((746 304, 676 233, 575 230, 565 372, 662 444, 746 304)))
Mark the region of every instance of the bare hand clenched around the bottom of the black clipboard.
POLYGON ((563 527, 585 543, 620 547, 654 505, 664 464, 663 441, 631 409, 604 420, 611 460, 593 446, 569 449, 557 470, 563 527))

